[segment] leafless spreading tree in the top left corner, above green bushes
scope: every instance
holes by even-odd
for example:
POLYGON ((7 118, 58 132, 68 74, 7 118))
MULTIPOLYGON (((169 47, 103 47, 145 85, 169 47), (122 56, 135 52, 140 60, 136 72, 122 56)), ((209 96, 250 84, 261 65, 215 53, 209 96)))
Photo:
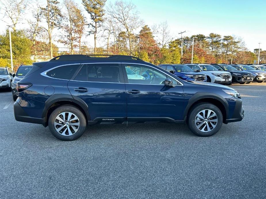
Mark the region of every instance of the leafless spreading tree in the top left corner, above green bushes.
POLYGON ((1 9, 4 11, 3 22, 6 22, 4 19, 8 18, 12 25, 12 29, 16 31, 16 26, 21 20, 21 15, 25 11, 27 6, 27 0, 0 0, 1 9))

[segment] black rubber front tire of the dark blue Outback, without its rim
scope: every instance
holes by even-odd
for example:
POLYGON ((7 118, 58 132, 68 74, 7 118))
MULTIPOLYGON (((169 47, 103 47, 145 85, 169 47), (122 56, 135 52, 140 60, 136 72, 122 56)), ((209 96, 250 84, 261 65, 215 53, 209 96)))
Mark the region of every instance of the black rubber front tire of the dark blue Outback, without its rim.
POLYGON ((217 106, 211 103, 202 102, 202 103, 194 105, 192 109, 190 110, 188 117, 187 117, 188 128, 191 130, 192 133, 194 133, 197 136, 202 136, 202 137, 212 136, 220 130, 222 124, 223 124, 223 114, 221 110, 217 106), (209 132, 202 132, 196 127, 195 120, 196 120, 197 114, 200 111, 206 110, 206 109, 209 109, 215 112, 215 114, 217 115, 217 123, 216 123, 215 128, 211 129, 209 132))

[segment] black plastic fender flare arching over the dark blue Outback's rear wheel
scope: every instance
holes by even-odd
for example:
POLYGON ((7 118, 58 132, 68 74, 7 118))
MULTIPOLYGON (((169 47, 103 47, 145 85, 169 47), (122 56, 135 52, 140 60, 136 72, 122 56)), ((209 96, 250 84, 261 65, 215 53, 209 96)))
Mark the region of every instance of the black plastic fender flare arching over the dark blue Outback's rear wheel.
POLYGON ((87 120, 90 120, 90 115, 88 112, 88 105, 82 99, 80 99, 79 97, 73 97, 72 95, 68 95, 68 94, 54 94, 54 95, 51 95, 51 97, 49 97, 49 99, 47 99, 45 102, 45 106, 42 112, 42 118, 44 119, 44 121, 46 121, 47 111, 49 110, 51 105, 56 102, 61 102, 61 101, 69 101, 69 102, 79 105, 85 112, 87 120))

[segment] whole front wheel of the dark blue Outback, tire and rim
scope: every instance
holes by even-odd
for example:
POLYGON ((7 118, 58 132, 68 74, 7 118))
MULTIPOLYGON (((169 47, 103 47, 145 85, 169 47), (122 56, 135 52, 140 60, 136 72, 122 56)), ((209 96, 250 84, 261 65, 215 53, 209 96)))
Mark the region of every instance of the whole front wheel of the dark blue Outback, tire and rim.
POLYGON ((187 125, 198 136, 211 136, 217 133, 223 124, 221 110, 211 103, 196 104, 189 113, 187 125))

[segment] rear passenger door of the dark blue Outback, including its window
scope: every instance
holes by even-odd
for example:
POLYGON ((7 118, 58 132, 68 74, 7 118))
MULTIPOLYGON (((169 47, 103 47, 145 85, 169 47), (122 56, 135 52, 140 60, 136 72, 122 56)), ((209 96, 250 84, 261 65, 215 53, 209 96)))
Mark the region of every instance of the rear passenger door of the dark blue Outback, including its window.
POLYGON ((126 120, 125 81, 120 63, 83 64, 68 82, 68 88, 88 105, 91 120, 112 123, 126 120))

